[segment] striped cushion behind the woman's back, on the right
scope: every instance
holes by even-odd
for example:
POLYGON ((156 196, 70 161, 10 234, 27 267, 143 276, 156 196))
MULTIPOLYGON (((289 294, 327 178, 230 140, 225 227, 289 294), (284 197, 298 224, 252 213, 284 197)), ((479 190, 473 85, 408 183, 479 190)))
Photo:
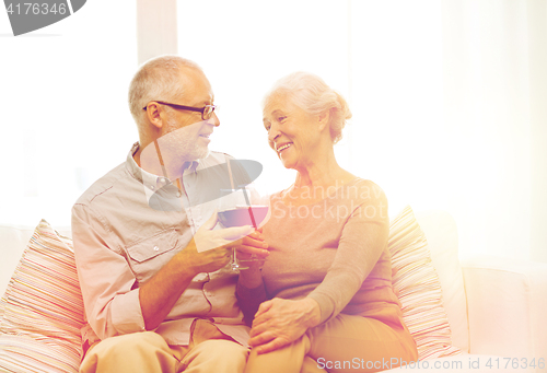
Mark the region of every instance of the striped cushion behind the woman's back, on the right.
POLYGON ((393 289, 420 360, 462 353, 452 346, 449 317, 426 235, 407 206, 389 225, 393 289))

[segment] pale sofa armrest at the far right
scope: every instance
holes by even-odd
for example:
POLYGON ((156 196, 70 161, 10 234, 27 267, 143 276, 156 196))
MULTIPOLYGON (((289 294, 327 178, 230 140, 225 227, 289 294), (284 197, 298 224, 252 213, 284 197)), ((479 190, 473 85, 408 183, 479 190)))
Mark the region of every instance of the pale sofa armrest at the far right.
POLYGON ((480 256, 462 267, 470 353, 547 364, 547 264, 480 256))

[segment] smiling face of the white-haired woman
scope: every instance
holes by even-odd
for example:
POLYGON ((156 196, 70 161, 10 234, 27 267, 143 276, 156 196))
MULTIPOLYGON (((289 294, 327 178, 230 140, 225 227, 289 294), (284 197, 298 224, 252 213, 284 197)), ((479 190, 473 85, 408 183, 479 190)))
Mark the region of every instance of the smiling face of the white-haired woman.
POLYGON ((268 143, 286 168, 300 168, 313 160, 319 137, 318 116, 294 105, 286 95, 274 95, 264 108, 268 143))

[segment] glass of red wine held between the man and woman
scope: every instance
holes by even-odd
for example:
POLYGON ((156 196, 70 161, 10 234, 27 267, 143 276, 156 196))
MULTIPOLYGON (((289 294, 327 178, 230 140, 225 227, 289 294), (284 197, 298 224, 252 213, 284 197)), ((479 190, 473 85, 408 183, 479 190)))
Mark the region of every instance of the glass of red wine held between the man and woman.
MULTIPOLYGON (((254 190, 248 187, 236 189, 220 189, 219 198, 219 223, 222 228, 251 225, 255 229, 260 228, 268 215, 267 205, 254 205, 256 200, 254 190)), ((230 266, 234 271, 247 269, 248 261, 238 260, 235 248, 232 254, 230 266)))

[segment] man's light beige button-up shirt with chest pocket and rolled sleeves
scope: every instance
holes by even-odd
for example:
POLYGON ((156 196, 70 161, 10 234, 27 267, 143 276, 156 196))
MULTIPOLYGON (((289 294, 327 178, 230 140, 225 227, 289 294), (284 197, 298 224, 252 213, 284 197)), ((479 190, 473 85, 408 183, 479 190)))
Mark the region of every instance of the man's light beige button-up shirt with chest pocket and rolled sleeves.
MULTIPOLYGON (((210 171, 229 159, 211 152, 191 163, 181 193, 168 178, 140 168, 132 158, 137 150, 138 143, 127 161, 94 183, 72 209, 78 276, 91 326, 82 334, 90 343, 97 337, 144 331, 139 287, 211 217, 217 202, 200 201, 200 191, 223 177, 210 171)), ((193 320, 206 318, 247 346, 236 282, 229 267, 196 276, 155 331, 170 345, 188 345, 193 320)))

